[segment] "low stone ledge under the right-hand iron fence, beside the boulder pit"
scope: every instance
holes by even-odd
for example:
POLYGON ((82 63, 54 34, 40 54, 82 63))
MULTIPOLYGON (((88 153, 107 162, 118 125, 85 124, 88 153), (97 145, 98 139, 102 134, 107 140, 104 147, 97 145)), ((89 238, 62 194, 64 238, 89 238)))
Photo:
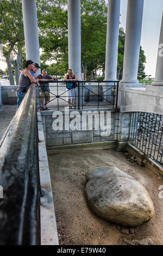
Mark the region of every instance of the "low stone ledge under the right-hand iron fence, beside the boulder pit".
POLYGON ((149 159, 142 151, 131 145, 130 143, 127 145, 127 151, 131 155, 136 157, 137 163, 140 166, 147 167, 152 170, 154 173, 158 174, 163 178, 163 168, 160 164, 156 163, 154 160, 149 159))

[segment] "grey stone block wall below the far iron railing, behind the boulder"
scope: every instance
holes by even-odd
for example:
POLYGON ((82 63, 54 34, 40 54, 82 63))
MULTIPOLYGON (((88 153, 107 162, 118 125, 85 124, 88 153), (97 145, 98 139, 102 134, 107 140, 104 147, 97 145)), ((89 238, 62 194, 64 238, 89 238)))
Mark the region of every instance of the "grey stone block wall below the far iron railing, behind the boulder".
MULTIPOLYGON (((108 141, 120 141, 126 142, 129 138, 129 126, 130 126, 130 113, 118 113, 115 112, 115 109, 84 109, 78 111, 78 119, 76 119, 76 126, 80 127, 80 130, 66 130, 67 127, 68 115, 70 122, 73 120, 72 113, 70 111, 66 113, 64 110, 60 111, 63 118, 63 130, 54 130, 54 120, 57 120, 58 115, 54 115, 57 113, 55 111, 42 111, 42 124, 43 131, 45 134, 45 141, 47 148, 56 147, 60 145, 73 145, 73 144, 81 144, 81 143, 97 143, 97 142, 108 142, 108 141), (87 119, 86 123, 83 124, 82 115, 85 114, 85 111, 89 111, 90 113, 86 113, 87 119), (88 119, 92 118, 92 113, 96 111, 96 114, 99 115, 99 129, 97 130, 97 122, 94 122, 95 118, 93 116, 92 119, 92 129, 88 125, 88 119), (108 116, 110 117, 108 123, 108 134, 104 135, 104 130, 101 129, 100 126, 100 116, 105 117, 104 125, 106 125, 106 112, 110 112, 108 116), (55 116, 55 117, 54 117, 55 116), (85 126, 85 130, 83 130, 83 125, 85 126), (96 127, 95 127, 96 126, 96 127)), ((76 115, 74 115, 76 117, 76 115)), ((97 121, 97 119, 96 119, 97 121)))

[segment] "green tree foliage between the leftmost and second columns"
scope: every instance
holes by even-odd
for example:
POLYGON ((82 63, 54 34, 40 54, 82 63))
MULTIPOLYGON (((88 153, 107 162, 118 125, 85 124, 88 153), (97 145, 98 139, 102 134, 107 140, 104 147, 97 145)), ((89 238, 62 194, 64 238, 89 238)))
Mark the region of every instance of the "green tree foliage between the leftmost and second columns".
POLYGON ((60 74, 68 69, 67 1, 37 1, 41 62, 53 60, 60 74), (53 19, 52 19, 53 17, 53 19))

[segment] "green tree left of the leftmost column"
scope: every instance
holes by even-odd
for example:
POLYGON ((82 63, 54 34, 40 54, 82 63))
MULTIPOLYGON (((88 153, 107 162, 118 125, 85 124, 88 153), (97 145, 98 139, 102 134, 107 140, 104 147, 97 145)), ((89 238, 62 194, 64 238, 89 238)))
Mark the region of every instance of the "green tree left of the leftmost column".
POLYGON ((0 2, 0 38, 3 56, 7 62, 10 84, 14 84, 12 66, 15 69, 16 84, 20 76, 20 62, 24 33, 21 0, 1 0, 0 2))

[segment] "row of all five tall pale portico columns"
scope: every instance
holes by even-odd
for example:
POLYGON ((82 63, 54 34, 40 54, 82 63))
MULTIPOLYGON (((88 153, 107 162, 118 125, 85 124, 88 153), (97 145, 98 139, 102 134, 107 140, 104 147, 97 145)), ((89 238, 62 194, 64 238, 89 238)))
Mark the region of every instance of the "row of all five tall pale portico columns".
MULTIPOLYGON (((68 66, 81 78, 80 0, 68 0, 68 66)), ((120 0, 108 0, 106 31, 105 80, 117 80, 118 31, 120 0)), ((137 80, 144 0, 128 0, 126 40, 124 46, 123 76, 121 87, 142 87, 137 80)), ((37 31, 36 0, 22 0, 24 36, 27 59, 40 64, 39 37, 37 31)), ((160 42, 163 43, 163 25, 160 42)), ((160 48, 159 48, 160 50, 160 48)), ((159 56, 153 86, 163 86, 163 60, 159 56)), ((121 88, 120 87, 120 88, 121 88)))

